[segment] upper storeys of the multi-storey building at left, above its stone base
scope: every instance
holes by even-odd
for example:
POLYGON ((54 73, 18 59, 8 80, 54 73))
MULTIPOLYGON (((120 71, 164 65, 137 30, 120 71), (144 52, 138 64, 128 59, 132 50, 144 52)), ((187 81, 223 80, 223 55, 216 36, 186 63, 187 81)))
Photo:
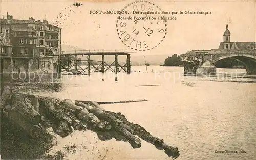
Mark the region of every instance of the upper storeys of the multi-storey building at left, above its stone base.
MULTIPOLYGON (((57 54, 59 51, 61 51, 61 29, 49 24, 46 19, 36 21, 33 17, 29 17, 27 20, 19 20, 8 13, 0 17, 1 59, 38 60, 57 54)), ((35 62, 40 63, 40 61, 35 62)))

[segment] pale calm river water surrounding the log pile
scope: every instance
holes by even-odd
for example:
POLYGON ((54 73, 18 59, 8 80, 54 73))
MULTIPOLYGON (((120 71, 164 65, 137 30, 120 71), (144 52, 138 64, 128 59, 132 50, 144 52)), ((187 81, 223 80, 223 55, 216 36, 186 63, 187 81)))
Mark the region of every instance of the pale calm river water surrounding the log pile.
MULTIPOLYGON (((178 159, 256 159, 255 79, 232 76, 243 75, 245 70, 218 69, 217 77, 183 77, 183 67, 148 66, 146 73, 145 66, 132 66, 132 71, 117 79, 111 73, 66 75, 59 83, 51 84, 48 79, 18 89, 72 100, 147 99, 103 107, 121 112, 130 122, 178 147, 178 159), (138 87, 152 84, 158 86, 138 87), (245 153, 216 153, 225 150, 245 153)), ((141 148, 132 149, 127 142, 100 141, 89 130, 57 140, 54 150, 78 146, 67 152, 67 159, 172 159, 143 140, 141 148)))

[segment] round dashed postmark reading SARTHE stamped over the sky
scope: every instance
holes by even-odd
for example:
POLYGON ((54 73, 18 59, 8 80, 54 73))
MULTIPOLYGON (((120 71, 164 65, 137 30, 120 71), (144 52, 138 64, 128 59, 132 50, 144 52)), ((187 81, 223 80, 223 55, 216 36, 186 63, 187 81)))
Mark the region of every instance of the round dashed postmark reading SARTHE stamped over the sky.
POLYGON ((128 4, 116 21, 119 39, 137 51, 157 47, 167 34, 166 20, 158 16, 161 12, 157 5, 149 1, 140 0, 128 4))

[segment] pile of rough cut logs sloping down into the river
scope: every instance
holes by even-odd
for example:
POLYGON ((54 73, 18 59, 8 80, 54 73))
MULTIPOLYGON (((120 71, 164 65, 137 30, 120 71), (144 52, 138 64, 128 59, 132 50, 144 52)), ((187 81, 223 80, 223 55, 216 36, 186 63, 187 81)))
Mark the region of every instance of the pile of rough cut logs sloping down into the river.
POLYGON ((62 138, 74 130, 92 130, 102 141, 115 138, 129 142, 133 148, 141 147, 141 139, 164 150, 170 157, 178 157, 178 148, 153 137, 139 124, 129 122, 121 113, 106 111, 95 101, 60 100, 13 93, 10 86, 1 90, 1 115, 23 128, 31 138, 37 138, 42 130, 52 127, 62 138), (136 137, 136 135, 138 137, 136 137))

